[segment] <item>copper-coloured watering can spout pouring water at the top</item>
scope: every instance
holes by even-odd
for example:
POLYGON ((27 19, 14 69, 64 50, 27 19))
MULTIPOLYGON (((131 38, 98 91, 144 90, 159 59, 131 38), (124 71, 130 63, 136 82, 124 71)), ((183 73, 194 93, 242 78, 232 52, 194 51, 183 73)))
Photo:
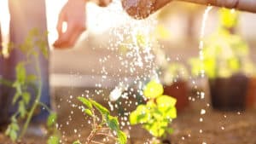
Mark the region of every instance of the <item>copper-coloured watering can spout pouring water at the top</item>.
MULTIPOLYGON (((224 7, 228 9, 239 9, 256 13, 256 0, 176 0, 189 3, 198 3, 224 7)), ((144 19, 158 9, 164 7, 172 0, 122 0, 125 11, 136 19, 144 19)))

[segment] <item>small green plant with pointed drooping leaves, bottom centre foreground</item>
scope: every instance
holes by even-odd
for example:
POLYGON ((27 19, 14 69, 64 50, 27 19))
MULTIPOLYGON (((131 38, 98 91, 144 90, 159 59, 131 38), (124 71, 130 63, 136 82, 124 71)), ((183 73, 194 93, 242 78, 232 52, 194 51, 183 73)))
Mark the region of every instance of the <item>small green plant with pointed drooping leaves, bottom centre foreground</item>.
MULTIPOLYGON (((118 118, 110 115, 110 112, 106 107, 96 101, 86 99, 84 97, 79 97, 85 107, 83 107, 83 112, 92 118, 91 132, 86 139, 86 144, 101 143, 98 141, 93 141, 96 135, 103 135, 112 138, 114 141, 118 141, 119 144, 125 144, 127 141, 125 133, 120 130, 118 118), (96 110, 100 112, 100 117, 96 114, 96 110)), ((74 141, 73 144, 79 144, 79 141, 74 141)))

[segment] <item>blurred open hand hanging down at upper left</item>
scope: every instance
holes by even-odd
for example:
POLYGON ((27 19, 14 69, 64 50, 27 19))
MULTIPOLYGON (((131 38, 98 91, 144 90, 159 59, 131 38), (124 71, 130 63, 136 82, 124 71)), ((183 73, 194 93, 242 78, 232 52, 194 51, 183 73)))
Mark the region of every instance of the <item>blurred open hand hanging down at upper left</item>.
POLYGON ((85 26, 85 3, 86 0, 68 0, 61 9, 57 24, 58 39, 54 43, 55 48, 71 48, 79 39, 85 26), (63 23, 67 22, 67 31, 62 32, 63 23))

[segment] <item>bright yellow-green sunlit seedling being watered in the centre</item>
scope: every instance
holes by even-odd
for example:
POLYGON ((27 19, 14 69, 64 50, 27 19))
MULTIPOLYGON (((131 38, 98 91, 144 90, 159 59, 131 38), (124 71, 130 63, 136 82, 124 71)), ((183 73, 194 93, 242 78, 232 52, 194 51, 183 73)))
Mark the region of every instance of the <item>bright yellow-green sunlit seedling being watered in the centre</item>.
POLYGON ((176 99, 169 95, 163 95, 163 86, 155 81, 149 82, 143 90, 148 102, 139 105, 131 112, 130 123, 143 124, 143 128, 157 138, 172 134, 172 128, 168 124, 177 117, 176 99))

